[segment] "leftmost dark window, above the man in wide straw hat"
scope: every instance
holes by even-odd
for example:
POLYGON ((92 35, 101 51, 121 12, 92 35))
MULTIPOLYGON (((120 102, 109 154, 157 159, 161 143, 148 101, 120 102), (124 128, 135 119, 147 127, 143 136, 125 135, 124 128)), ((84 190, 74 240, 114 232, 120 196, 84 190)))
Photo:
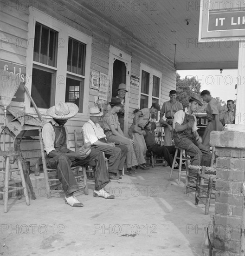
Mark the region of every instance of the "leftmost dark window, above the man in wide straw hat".
MULTIPOLYGON (((32 99, 39 108, 54 105, 58 32, 38 22, 35 25, 32 67, 32 99), (45 64, 48 67, 44 67, 45 64)), ((32 104, 31 104, 31 107, 32 104)))

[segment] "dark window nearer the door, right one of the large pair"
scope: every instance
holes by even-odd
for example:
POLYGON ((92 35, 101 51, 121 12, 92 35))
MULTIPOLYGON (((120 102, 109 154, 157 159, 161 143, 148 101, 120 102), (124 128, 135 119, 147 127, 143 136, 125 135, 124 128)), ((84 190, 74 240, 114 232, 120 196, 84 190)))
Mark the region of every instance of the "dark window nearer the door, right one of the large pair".
POLYGON ((84 72, 86 45, 69 37, 65 101, 75 103, 79 112, 84 104, 84 72))

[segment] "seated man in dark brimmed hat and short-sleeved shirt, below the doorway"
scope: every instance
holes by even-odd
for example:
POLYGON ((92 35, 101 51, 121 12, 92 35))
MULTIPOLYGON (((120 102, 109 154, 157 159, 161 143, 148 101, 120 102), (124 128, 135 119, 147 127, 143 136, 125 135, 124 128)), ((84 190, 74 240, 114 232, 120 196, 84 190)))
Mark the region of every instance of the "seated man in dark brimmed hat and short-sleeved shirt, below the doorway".
POLYGON ((120 143, 127 147, 126 165, 129 172, 135 172, 134 167, 138 165, 135 155, 136 143, 123 134, 117 116, 117 113, 120 111, 122 106, 121 101, 118 98, 111 98, 109 104, 111 108, 105 114, 103 120, 107 141, 120 143))

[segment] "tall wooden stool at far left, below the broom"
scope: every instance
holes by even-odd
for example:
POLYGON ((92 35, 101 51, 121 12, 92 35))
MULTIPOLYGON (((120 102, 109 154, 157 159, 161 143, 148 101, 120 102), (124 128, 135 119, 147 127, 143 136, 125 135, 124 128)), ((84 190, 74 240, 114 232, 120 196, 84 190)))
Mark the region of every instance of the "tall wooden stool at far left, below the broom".
POLYGON ((2 151, 2 153, 3 153, 3 156, 6 158, 6 160, 5 160, 5 168, 0 168, 0 173, 5 175, 5 179, 4 179, 5 181, 4 181, 4 189, 3 189, 3 191, 0 191, 0 194, 3 194, 4 212, 7 212, 8 211, 7 203, 8 203, 8 193, 9 192, 20 191, 20 190, 25 189, 26 191, 24 192, 23 195, 26 197, 26 205, 30 205, 30 199, 28 196, 28 190, 26 188, 26 181, 25 181, 22 164, 21 164, 20 157, 19 157, 19 152, 11 152, 10 154, 8 153, 7 155, 4 155, 4 151, 2 151), (18 168, 10 168, 9 158, 12 155, 16 156, 18 168), (16 171, 20 172, 20 179, 21 179, 22 187, 13 187, 13 186, 8 185, 9 174, 11 174, 12 172, 16 172, 16 171))

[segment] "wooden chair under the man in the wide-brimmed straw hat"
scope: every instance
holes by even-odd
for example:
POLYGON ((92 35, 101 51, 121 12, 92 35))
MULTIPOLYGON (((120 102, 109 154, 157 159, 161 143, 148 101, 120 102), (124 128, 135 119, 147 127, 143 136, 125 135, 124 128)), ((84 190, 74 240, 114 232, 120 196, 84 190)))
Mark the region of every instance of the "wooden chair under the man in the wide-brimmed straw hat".
MULTIPOLYGON (((39 141, 40 141, 40 147, 41 147, 41 156, 42 156, 42 163, 43 163, 43 170, 44 170, 44 179, 45 179, 45 187, 47 190, 47 198, 51 198, 52 194, 57 195, 56 193, 63 193, 63 189, 51 189, 52 187, 58 187, 61 185, 59 180, 57 178, 49 178, 49 173, 55 172, 56 169, 54 168, 47 168, 46 166, 46 155, 44 151, 44 143, 43 143, 43 138, 41 134, 41 129, 39 129, 39 141)), ((72 167, 71 170, 76 171, 77 173, 75 174, 75 179, 78 184, 78 188, 84 189, 84 194, 88 195, 89 194, 89 189, 87 185, 87 175, 86 175, 86 168, 84 166, 76 166, 72 167), (79 175, 80 170, 82 170, 82 175, 79 175)))

